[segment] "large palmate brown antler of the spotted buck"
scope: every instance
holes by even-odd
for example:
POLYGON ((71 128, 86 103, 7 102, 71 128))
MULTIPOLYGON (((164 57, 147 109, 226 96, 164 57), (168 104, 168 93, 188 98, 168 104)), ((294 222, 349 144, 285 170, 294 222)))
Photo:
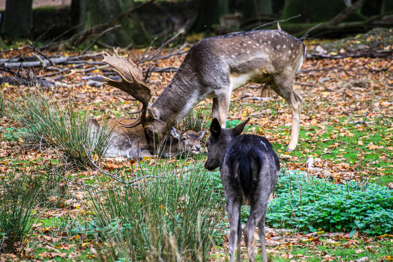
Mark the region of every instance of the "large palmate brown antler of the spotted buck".
MULTIPOLYGON (((107 77, 103 77, 107 81, 106 84, 123 90, 142 103, 142 108, 140 110, 135 112, 126 112, 130 115, 142 113, 136 119, 136 121, 128 125, 122 124, 121 122, 119 123, 124 127, 134 127, 144 124, 147 121, 146 112, 147 106, 149 105, 149 101, 151 99, 151 92, 149 87, 145 85, 147 78, 143 79, 142 68, 139 66, 139 63, 134 64, 130 60, 130 56, 128 58, 124 58, 118 55, 116 51, 114 52, 114 55, 109 55, 106 53, 106 55, 103 55, 103 57, 103 62, 111 65, 122 79, 122 81, 114 81, 107 77)), ((149 72, 147 72, 147 74, 148 73, 149 72)))

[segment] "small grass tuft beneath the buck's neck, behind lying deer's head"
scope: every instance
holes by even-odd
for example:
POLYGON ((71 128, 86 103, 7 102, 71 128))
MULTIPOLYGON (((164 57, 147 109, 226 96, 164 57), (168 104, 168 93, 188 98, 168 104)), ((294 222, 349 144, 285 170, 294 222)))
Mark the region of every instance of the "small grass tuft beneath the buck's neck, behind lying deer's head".
POLYGON ((209 128, 211 118, 211 106, 209 104, 199 105, 176 126, 179 130, 193 130, 200 132, 209 128))

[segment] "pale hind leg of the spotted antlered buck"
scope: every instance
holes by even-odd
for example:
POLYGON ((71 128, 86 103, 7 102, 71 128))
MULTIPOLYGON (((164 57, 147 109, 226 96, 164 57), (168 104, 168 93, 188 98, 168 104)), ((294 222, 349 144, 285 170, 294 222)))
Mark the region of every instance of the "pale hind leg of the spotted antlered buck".
POLYGON ((286 149, 286 151, 290 152, 298 145, 301 102, 303 98, 294 90, 294 75, 275 75, 273 79, 272 89, 288 102, 292 114, 291 139, 286 149))

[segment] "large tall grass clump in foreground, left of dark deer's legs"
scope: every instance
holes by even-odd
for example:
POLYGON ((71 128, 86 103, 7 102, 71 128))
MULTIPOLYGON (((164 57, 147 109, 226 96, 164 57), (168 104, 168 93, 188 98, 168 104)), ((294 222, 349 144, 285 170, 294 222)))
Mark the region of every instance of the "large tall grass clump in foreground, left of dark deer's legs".
POLYGON ((181 174, 154 173, 138 188, 92 197, 107 260, 207 261, 225 211, 217 174, 202 163, 181 174))

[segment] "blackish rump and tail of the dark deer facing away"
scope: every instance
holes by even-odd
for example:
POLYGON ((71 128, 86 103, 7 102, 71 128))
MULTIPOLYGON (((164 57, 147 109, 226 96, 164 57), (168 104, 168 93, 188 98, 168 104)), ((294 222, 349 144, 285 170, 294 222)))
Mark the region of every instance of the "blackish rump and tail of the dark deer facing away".
POLYGON ((261 170, 273 168, 266 171, 275 173, 280 169, 280 161, 272 145, 266 138, 257 135, 241 135, 230 141, 220 161, 220 169, 224 164, 228 166, 233 182, 241 186, 246 204, 250 194, 258 187, 261 170), (274 161, 274 165, 269 165, 269 161, 274 161))

